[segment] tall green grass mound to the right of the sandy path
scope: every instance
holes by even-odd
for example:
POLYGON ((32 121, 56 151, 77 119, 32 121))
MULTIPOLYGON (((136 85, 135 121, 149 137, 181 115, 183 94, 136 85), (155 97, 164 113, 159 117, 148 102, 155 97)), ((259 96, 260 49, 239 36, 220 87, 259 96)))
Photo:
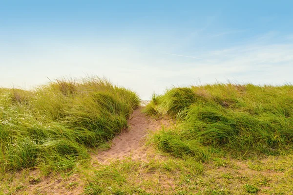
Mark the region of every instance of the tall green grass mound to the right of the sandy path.
POLYGON ((153 95, 144 110, 176 119, 150 140, 175 156, 246 157, 292 150, 293 86, 215 84, 174 87, 153 95))

